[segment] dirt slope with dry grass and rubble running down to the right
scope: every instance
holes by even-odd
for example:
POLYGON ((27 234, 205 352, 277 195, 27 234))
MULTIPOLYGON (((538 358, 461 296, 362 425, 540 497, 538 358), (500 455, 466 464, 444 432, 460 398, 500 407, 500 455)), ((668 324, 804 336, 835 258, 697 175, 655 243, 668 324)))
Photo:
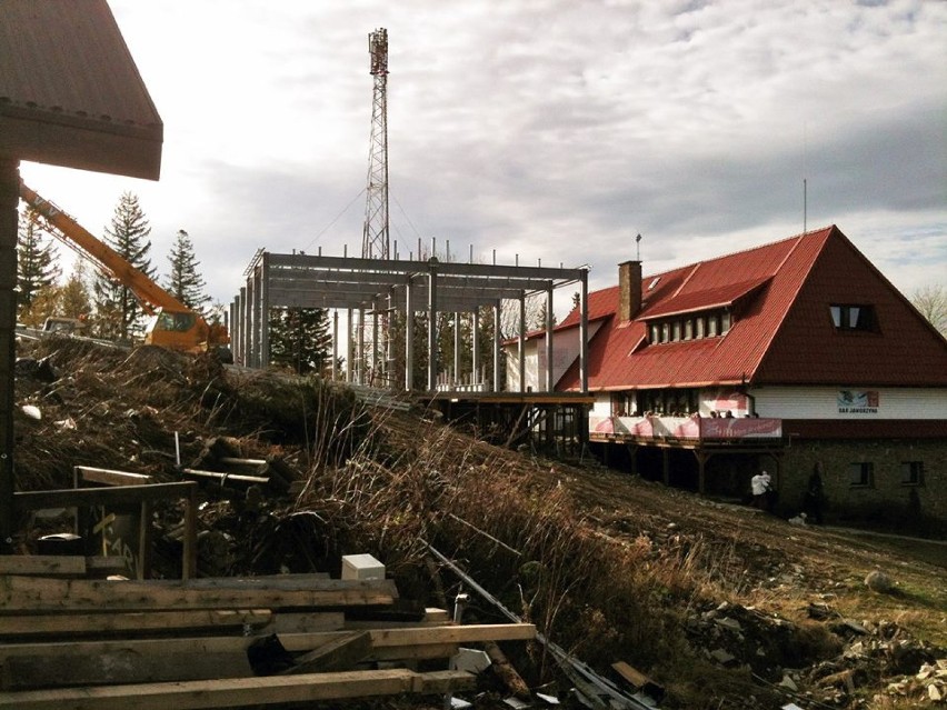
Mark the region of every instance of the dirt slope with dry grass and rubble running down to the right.
MULTIPOLYGON (((795 527, 212 360, 67 339, 21 354, 18 404, 41 413, 17 419, 21 489, 69 486, 74 463, 173 480, 177 448, 187 464, 219 437, 298 472, 301 492, 252 506, 207 491, 213 573, 337 572, 340 554, 370 551, 405 596, 449 602, 457 580, 431 573, 428 540, 599 672, 625 660, 650 674, 665 708, 939 707, 947 694, 943 543, 795 527), (866 587, 875 570, 889 591, 866 587)), ((567 697, 541 649, 515 661, 567 697)))

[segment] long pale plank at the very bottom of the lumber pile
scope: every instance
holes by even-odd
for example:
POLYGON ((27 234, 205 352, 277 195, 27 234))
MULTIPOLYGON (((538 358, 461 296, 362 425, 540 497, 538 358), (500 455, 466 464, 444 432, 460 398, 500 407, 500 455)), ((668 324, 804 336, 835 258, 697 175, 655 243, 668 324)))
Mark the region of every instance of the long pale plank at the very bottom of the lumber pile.
POLYGON ((248 704, 312 702, 405 692, 441 694, 472 690, 475 677, 461 671, 416 673, 403 669, 229 678, 0 692, 0 707, 21 710, 190 710, 248 704))

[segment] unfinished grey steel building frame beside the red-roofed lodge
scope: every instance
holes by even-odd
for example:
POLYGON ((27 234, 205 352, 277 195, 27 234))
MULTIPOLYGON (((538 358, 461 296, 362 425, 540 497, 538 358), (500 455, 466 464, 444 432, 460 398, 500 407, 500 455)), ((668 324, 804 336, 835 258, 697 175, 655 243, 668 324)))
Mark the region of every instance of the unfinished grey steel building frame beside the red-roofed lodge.
MULTIPOLYGON (((437 332, 428 329, 427 338, 427 390, 469 389, 474 391, 500 391, 501 334, 494 329, 491 382, 480 381, 480 363, 477 337, 480 309, 490 308, 495 322, 500 322, 504 301, 519 301, 519 362, 522 369, 526 342, 526 314, 522 304, 537 293, 546 296, 546 332, 552 331, 552 293, 569 284, 579 287, 579 366, 582 392, 588 392, 588 269, 564 269, 550 267, 524 267, 460 263, 399 259, 363 259, 350 257, 323 257, 291 253, 271 253, 258 250, 245 271, 246 286, 230 304, 231 343, 235 362, 250 368, 263 368, 270 361, 268 314, 272 308, 325 308, 335 309, 332 320, 332 363, 339 359, 339 311, 347 313, 348 347, 345 353, 343 379, 351 383, 371 384, 372 376, 386 371, 391 353, 379 356, 383 346, 382 320, 392 313, 405 314, 405 382, 403 389, 412 391, 416 357, 415 318, 427 313, 428 322, 435 323, 438 313, 471 313, 474 329, 470 361, 471 372, 461 377, 458 372, 459 339, 455 343, 455 371, 449 387, 438 386, 437 332), (363 350, 365 339, 353 332, 353 323, 371 322, 371 347, 363 350), (358 349, 358 352, 356 352, 358 349), (467 380, 462 386, 460 384, 467 380)), ((546 362, 552 362, 552 338, 546 338, 546 362)), ((340 377, 342 373, 337 373, 340 377)), ((341 379, 341 377, 340 377, 341 379)), ((520 372, 519 382, 524 382, 520 372)), ((397 382, 390 382, 399 389, 397 382)), ((552 369, 547 368, 544 389, 554 390, 552 369)))

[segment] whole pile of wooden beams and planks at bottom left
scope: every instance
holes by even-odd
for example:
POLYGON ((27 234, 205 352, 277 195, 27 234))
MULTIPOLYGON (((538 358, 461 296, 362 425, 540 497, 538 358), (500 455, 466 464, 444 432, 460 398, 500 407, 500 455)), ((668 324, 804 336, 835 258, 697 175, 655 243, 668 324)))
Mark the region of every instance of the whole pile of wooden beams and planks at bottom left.
MULTIPOLYGON (((531 624, 403 620, 386 579, 280 574, 87 579, 86 558, 0 558, 0 707, 220 708, 474 687, 459 644, 529 640, 531 624), (401 619, 386 621, 385 619, 401 619)), ((91 567, 96 567, 92 564, 91 567)))

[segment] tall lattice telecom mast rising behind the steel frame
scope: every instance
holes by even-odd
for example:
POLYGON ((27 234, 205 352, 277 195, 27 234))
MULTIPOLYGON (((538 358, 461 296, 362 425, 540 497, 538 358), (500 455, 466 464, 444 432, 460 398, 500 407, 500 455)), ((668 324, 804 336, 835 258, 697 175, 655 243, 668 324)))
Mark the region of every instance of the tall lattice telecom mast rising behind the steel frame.
POLYGON ((388 259, 388 30, 381 28, 369 33, 368 53, 375 91, 361 256, 388 259))

